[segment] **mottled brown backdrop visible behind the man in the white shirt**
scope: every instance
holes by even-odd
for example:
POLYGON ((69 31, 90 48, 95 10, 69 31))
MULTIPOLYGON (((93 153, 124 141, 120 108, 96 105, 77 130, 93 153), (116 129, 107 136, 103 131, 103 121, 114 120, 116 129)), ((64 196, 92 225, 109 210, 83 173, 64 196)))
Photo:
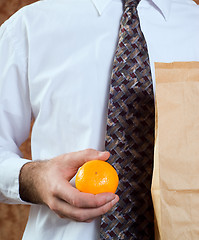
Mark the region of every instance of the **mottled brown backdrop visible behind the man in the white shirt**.
MULTIPOLYGON (((37 0, 0 0, 0 25, 21 7, 37 0)), ((199 0, 195 0, 199 4, 199 0)), ((21 146, 25 158, 31 158, 30 137, 21 146)), ((27 222, 29 206, 0 204, 0 240, 20 240, 27 222)))

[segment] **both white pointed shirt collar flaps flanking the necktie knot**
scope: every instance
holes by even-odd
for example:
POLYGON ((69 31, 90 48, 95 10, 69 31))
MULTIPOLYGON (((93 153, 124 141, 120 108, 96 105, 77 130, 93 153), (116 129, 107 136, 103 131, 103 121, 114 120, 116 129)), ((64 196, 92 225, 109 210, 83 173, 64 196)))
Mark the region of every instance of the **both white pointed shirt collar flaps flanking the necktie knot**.
MULTIPOLYGON (((95 5, 98 13, 101 15, 103 10, 112 0, 91 0, 91 1, 95 5)), ((165 20, 168 19, 172 0, 147 0, 147 1, 151 2, 151 4, 154 5, 154 7, 158 8, 158 10, 164 16, 165 20)))

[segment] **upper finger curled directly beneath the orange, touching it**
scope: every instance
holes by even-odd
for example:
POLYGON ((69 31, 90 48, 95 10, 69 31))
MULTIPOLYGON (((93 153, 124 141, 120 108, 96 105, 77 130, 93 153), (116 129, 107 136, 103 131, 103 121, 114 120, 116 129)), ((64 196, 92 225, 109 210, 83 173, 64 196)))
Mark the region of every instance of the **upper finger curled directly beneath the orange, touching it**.
POLYGON ((64 182, 62 186, 58 186, 56 197, 62 199, 65 202, 68 202, 75 207, 97 208, 112 201, 115 198, 115 194, 100 193, 94 195, 90 193, 83 193, 74 188, 70 183, 64 182), (66 190, 64 191, 63 189, 66 190))

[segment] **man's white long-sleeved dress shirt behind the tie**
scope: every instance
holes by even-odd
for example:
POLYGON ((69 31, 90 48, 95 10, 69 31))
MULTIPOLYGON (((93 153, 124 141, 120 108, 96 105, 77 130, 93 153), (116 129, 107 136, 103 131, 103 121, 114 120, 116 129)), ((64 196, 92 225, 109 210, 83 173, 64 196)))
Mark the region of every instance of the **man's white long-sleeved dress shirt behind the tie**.
MULTIPOLYGON (((154 62, 199 61, 199 7, 192 0, 141 0, 138 6, 153 83, 154 62)), ((23 203, 19 146, 32 158, 104 149, 121 0, 44 0, 0 28, 0 201, 23 203)), ((32 205, 24 240, 94 240, 99 219, 79 223, 32 205)))

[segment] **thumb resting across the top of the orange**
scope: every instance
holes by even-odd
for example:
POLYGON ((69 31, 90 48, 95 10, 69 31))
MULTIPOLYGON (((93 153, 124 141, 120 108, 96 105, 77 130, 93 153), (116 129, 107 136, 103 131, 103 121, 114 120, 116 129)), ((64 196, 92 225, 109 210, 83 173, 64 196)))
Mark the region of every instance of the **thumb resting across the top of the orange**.
POLYGON ((72 163, 72 166, 76 167, 77 169, 90 160, 98 159, 106 161, 109 157, 109 152, 101 152, 95 149, 86 149, 78 152, 73 152, 69 153, 67 156, 67 158, 70 159, 69 162, 72 163))

